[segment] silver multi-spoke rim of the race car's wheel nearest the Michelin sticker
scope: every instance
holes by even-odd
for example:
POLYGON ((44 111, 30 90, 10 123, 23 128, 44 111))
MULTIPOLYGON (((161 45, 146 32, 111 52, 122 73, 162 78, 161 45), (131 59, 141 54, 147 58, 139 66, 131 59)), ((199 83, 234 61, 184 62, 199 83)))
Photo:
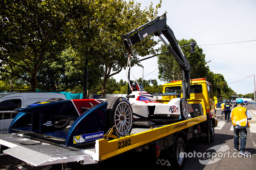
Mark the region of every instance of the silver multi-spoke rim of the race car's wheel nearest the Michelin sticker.
POLYGON ((132 110, 124 101, 116 107, 115 126, 120 135, 127 135, 132 128, 132 110))

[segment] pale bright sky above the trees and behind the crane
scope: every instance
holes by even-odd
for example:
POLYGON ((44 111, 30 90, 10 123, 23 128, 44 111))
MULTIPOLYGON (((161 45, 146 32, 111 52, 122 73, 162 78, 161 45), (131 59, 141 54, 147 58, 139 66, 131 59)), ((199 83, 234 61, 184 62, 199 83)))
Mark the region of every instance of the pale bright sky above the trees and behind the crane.
MULTIPOLYGON (((159 3, 159 0, 134 1, 141 3, 141 9, 151 2, 153 6, 159 3)), ((195 39, 203 49, 205 61, 211 60, 207 63, 210 70, 222 74, 228 87, 237 94, 248 94, 255 90, 252 76, 256 73, 255 9, 255 0, 163 0, 158 16, 166 11, 167 25, 176 39, 195 39)), ((157 78, 157 57, 144 60, 141 64, 144 66, 144 79, 157 79, 161 85, 165 83, 157 78)), ((132 71, 136 73, 135 78, 142 78, 141 67, 133 67, 132 71)), ((126 71, 113 78, 116 81, 126 80, 126 71)))

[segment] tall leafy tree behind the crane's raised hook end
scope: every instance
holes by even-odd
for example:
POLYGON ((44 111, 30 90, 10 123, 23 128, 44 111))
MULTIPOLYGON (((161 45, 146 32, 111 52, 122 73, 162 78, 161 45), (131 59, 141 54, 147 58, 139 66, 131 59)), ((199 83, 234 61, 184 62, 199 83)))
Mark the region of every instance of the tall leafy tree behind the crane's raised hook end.
MULTIPOLYGON (((156 5, 155 11, 152 4, 142 11, 140 4, 134 4, 134 1, 109 0, 103 5, 104 10, 97 20, 100 22, 98 34, 91 41, 93 45, 90 50, 93 51, 91 58, 100 63, 102 72, 105 72, 101 79, 101 93, 105 96, 108 79, 126 68, 128 53, 122 43, 122 35, 153 19, 161 4, 156 5)), ((138 64, 138 55, 154 53, 155 45, 152 36, 136 44, 132 51, 132 65, 138 64)))

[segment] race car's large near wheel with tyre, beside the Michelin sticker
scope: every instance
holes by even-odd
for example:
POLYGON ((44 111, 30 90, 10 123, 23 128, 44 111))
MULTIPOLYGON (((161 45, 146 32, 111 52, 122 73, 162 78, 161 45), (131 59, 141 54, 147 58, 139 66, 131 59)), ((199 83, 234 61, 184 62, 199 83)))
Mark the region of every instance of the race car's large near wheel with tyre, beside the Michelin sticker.
POLYGON ((123 97, 113 97, 105 100, 108 102, 106 113, 107 130, 115 126, 117 137, 130 134, 132 131, 132 107, 130 102, 123 97))

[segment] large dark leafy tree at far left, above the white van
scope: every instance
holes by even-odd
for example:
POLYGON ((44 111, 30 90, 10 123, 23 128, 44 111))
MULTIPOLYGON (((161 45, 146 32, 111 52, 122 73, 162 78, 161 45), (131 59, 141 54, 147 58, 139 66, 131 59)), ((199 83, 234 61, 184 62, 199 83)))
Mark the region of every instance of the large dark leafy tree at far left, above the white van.
POLYGON ((0 76, 8 73, 37 86, 37 73, 45 61, 57 57, 68 45, 76 44, 82 33, 90 38, 86 23, 94 18, 95 9, 100 8, 99 1, 1 2, 0 76))

